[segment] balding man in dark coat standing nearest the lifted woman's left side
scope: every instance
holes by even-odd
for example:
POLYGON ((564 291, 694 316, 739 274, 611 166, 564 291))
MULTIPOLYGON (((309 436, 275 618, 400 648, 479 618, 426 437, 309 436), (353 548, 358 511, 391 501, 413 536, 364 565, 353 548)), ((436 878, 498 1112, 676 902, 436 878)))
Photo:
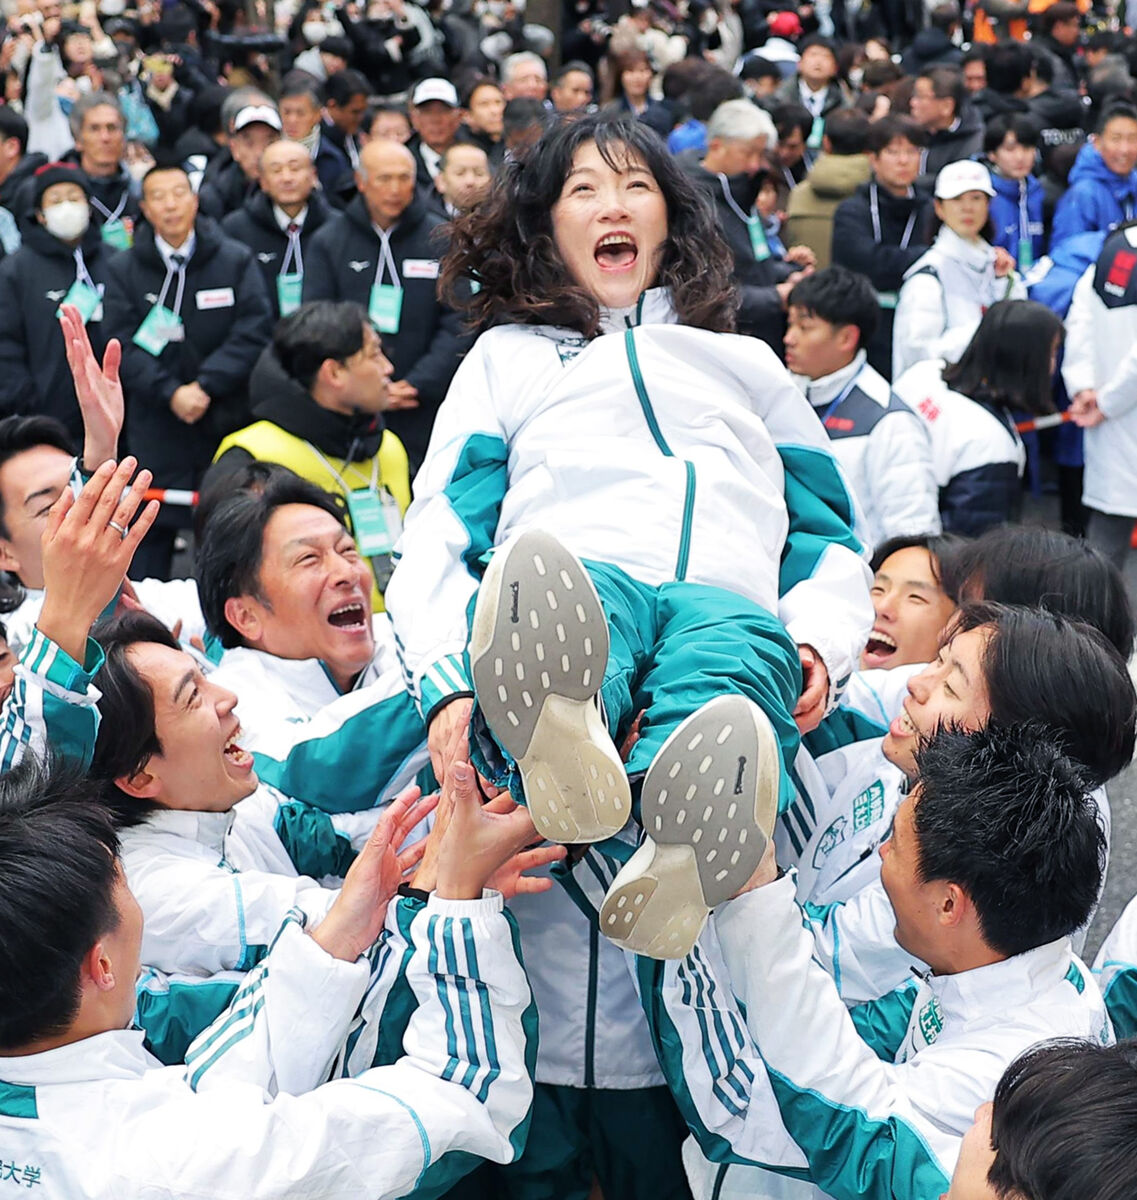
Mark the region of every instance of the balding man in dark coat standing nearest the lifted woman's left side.
POLYGON ((467 344, 458 314, 438 299, 445 217, 416 193, 415 156, 401 142, 368 142, 355 182, 359 194, 305 251, 303 300, 366 310, 395 368, 384 420, 417 468, 467 344))

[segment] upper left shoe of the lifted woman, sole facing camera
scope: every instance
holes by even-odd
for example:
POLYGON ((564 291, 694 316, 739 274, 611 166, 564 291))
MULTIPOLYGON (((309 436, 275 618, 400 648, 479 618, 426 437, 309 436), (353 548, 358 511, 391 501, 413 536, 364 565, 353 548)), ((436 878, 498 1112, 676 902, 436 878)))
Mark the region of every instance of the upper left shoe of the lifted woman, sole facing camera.
POLYGON ((524 533, 489 560, 470 666, 482 715, 517 762, 537 832, 568 844, 619 833, 632 794, 596 701, 608 622, 588 571, 551 534, 524 533))

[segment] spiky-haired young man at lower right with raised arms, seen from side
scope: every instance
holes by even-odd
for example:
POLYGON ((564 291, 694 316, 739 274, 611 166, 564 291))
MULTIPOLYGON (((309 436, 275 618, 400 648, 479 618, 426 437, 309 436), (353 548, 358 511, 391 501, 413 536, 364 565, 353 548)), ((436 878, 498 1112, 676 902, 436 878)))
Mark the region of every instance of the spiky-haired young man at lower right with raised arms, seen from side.
POLYGON ((930 971, 847 1009, 772 854, 716 911, 717 947, 639 960, 668 1081, 715 1159, 685 1156, 697 1196, 764 1194, 762 1166, 832 1200, 939 1200, 1018 1054, 1112 1040, 1069 938, 1105 863, 1081 770, 1027 724, 940 730, 918 774, 880 870, 896 941, 930 971), (691 1039, 704 1052, 680 1058, 691 1039))

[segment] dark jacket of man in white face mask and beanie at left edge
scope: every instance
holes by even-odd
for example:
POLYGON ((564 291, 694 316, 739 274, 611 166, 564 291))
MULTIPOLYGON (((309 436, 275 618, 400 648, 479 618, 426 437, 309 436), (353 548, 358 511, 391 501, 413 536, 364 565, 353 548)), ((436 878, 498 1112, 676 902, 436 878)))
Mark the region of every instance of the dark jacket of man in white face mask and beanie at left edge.
MULTIPOLYGON (((26 194, 30 198, 30 192, 26 194)), ((0 413, 54 416, 78 442, 83 418, 55 316, 76 282, 74 251, 31 214, 25 217, 23 245, 0 263, 0 413)), ((103 245, 94 221, 79 248, 88 275, 102 290, 115 252, 103 245)), ((86 330, 101 360, 108 337, 102 305, 91 314, 86 330)))

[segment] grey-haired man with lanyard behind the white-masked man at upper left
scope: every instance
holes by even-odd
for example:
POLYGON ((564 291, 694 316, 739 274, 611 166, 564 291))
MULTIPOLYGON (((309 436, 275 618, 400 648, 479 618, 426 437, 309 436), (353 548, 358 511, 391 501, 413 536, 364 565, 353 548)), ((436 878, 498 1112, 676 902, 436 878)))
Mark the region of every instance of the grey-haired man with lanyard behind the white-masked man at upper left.
POLYGON ((125 250, 134 235, 139 214, 139 187, 122 161, 126 120, 109 91, 80 96, 71 109, 71 136, 76 148, 64 162, 73 162, 90 184, 91 224, 115 250, 125 250))

